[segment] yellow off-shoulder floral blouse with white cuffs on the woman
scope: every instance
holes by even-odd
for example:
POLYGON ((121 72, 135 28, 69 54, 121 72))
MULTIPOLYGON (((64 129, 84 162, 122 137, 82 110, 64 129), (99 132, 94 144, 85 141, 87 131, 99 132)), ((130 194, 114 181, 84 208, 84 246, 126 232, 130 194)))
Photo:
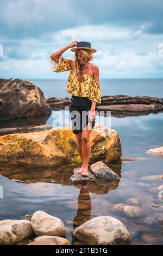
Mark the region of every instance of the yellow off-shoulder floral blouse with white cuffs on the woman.
POLYGON ((92 75, 88 74, 84 74, 84 79, 82 80, 82 82, 79 82, 74 76, 74 71, 71 69, 68 60, 62 57, 62 54, 59 58, 59 63, 54 62, 54 60, 50 58, 50 68, 54 72, 63 72, 70 70, 66 93, 74 96, 89 97, 89 100, 101 103, 102 93, 99 82, 94 80, 92 75))

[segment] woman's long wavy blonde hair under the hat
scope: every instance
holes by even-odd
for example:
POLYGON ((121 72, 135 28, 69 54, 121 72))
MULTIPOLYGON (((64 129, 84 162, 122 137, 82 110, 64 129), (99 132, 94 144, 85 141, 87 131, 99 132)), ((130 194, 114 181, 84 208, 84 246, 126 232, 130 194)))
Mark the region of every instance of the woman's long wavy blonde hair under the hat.
POLYGON ((84 49, 79 49, 75 53, 74 57, 74 75, 78 79, 78 81, 82 81, 84 77, 84 70, 83 70, 83 65, 80 64, 78 60, 78 52, 82 52, 82 57, 87 58, 87 61, 91 61, 93 59, 93 53, 90 50, 84 50, 84 49))

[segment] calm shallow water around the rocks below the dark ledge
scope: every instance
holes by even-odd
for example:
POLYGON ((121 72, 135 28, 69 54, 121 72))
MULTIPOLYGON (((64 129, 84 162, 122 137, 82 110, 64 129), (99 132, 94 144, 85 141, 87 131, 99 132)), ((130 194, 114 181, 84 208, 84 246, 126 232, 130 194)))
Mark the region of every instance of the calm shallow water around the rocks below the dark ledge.
MULTIPOLYGON (((53 113, 47 124, 52 125, 53 113)), ((64 125, 68 121, 68 118, 65 119, 64 125)), ((111 129, 115 129, 121 138, 122 158, 140 158, 138 161, 123 161, 122 164, 110 166, 122 177, 118 184, 73 185, 69 178, 73 168, 78 167, 73 163, 58 169, 1 164, 0 184, 4 198, 0 199, 0 220, 21 220, 26 214, 43 210, 64 221, 66 238, 71 240, 72 230, 77 225, 90 218, 107 215, 118 218, 126 225, 133 245, 163 245, 163 226, 158 223, 159 218, 163 218, 163 209, 151 207, 151 204, 163 205, 163 199, 158 197, 158 187, 163 185, 163 180, 143 178, 163 174, 162 157, 146 154, 148 149, 163 145, 162 127, 162 112, 139 117, 111 117, 111 129), (149 209, 149 214, 129 218, 112 211, 112 207, 118 203, 131 205, 127 203, 129 198, 139 199, 137 206, 149 209)))

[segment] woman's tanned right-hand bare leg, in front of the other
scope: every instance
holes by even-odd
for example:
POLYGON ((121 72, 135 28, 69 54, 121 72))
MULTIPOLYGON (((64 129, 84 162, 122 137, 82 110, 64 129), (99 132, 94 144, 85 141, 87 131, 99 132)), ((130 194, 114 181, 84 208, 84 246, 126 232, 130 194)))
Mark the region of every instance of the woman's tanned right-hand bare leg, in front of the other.
POLYGON ((83 171, 82 175, 88 175, 88 163, 91 156, 91 126, 90 123, 85 127, 82 132, 82 154, 83 154, 83 171))

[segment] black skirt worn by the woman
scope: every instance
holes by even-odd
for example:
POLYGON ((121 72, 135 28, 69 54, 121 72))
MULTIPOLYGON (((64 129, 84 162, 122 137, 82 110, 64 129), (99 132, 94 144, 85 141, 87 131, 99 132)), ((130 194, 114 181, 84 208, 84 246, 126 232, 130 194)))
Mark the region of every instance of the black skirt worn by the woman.
POLYGON ((91 109, 92 101, 88 97, 74 96, 71 97, 70 115, 72 121, 72 131, 74 134, 82 132, 84 128, 90 123, 91 130, 95 126, 95 119, 97 115, 97 106, 95 108, 95 119, 89 120, 88 115, 91 109))

